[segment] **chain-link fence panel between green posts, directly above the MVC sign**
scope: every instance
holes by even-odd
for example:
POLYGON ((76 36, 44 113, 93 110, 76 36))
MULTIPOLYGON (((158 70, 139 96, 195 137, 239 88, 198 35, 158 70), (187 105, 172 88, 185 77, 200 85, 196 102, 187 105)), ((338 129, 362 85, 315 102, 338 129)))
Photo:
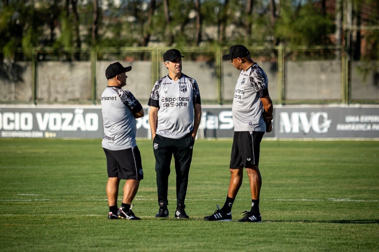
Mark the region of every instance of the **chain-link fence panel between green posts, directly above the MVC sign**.
POLYGON ((284 54, 283 100, 342 102, 341 49, 292 49, 284 54))

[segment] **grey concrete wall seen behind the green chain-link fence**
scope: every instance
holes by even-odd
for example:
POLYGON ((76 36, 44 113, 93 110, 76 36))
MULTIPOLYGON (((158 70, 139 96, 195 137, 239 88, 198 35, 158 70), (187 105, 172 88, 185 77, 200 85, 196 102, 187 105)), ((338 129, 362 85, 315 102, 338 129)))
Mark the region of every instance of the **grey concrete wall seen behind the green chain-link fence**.
MULTIPOLYGON (((105 69, 113 61, 97 62, 97 99, 107 85, 105 69)), ((121 62, 132 66, 127 76, 126 88, 143 104, 147 104, 152 90, 152 63, 149 61, 121 62)), ((222 96, 232 100, 235 83, 240 71, 229 61, 222 62, 222 96)), ((352 63, 352 100, 379 100, 378 62, 352 63), (376 64, 376 65, 375 65, 376 64)), ((279 99, 278 71, 276 62, 258 62, 269 79, 269 93, 273 100, 279 99)), ((168 73, 163 63, 161 77, 168 73)), ((217 77, 213 62, 183 61, 183 73, 196 79, 202 100, 217 99, 217 77)), ((287 61, 285 94, 287 100, 341 100, 341 62, 339 60, 287 61)), ((156 81, 156 80, 154 80, 156 81)), ((17 62, 11 66, 0 65, 0 101, 31 102, 33 97, 30 62, 17 62)), ((46 102, 90 102, 92 96, 91 62, 39 62, 38 101, 46 102)))

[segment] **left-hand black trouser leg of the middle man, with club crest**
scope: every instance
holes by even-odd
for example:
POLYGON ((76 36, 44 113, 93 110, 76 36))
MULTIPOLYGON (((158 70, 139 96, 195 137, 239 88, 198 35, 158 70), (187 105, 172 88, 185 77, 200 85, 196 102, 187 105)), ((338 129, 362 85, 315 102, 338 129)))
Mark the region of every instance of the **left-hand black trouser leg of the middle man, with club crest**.
POLYGON ((172 158, 171 139, 156 135, 153 141, 155 156, 155 172, 157 173, 158 203, 166 202, 168 191, 168 176, 172 158))

